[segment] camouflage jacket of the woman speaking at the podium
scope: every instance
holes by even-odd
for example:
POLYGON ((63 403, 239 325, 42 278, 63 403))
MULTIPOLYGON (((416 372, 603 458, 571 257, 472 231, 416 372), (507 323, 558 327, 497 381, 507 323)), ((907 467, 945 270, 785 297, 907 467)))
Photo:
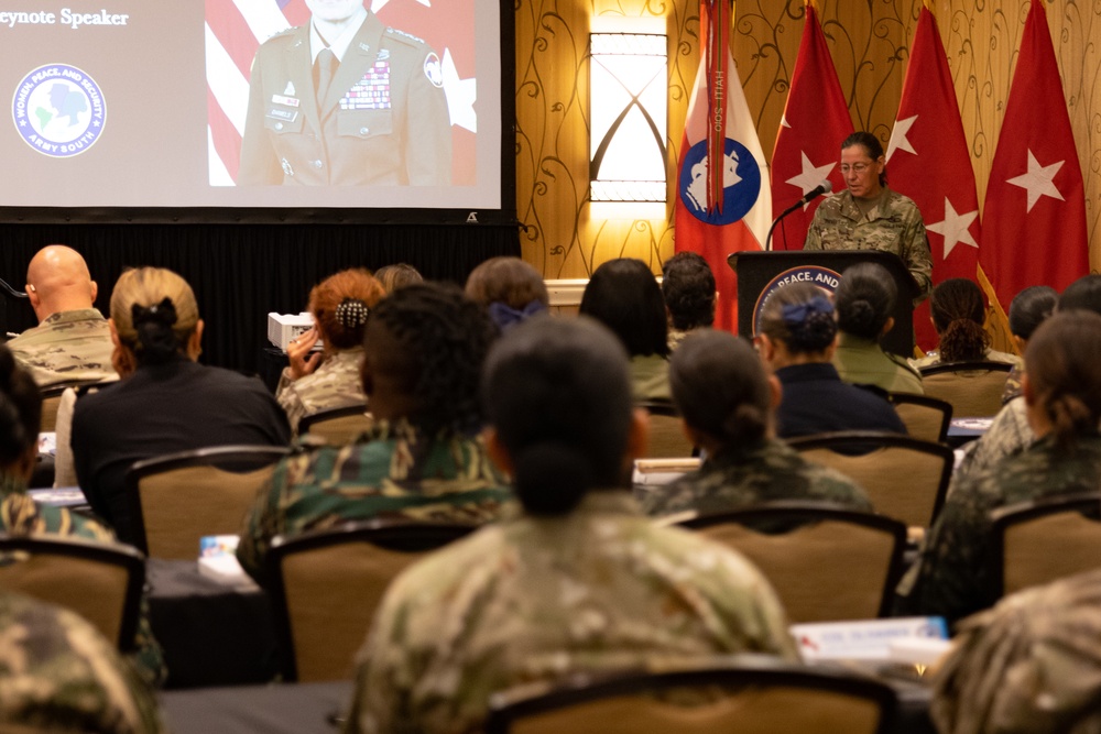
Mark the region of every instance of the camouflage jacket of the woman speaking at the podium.
POLYGON ((848 190, 822 201, 810 221, 803 249, 893 252, 917 281, 915 300, 933 291, 933 256, 922 212, 912 199, 887 187, 866 218, 848 190))

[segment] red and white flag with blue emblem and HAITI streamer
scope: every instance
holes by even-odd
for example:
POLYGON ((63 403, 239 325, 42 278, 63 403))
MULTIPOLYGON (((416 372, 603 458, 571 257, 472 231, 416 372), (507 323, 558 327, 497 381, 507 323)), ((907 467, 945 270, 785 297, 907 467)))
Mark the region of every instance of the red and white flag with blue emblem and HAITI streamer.
POLYGON ((674 202, 677 252, 697 252, 719 289, 716 328, 738 325, 727 256, 760 250, 772 219, 767 164, 730 53, 730 0, 700 4, 700 64, 688 102, 674 202))

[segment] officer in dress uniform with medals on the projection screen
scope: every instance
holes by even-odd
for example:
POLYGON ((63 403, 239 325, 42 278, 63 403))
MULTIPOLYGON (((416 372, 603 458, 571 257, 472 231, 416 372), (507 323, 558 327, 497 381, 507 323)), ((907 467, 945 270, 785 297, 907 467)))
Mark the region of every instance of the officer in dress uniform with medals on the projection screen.
POLYGON ((451 128, 439 56, 362 0, 306 0, 304 26, 252 63, 238 184, 446 186, 451 128))

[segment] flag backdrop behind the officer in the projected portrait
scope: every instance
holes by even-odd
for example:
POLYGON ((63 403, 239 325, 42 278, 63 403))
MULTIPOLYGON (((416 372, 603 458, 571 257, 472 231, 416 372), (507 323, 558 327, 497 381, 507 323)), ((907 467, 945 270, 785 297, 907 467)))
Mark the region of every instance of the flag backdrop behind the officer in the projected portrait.
MULTIPOLYGON (((386 25, 424 39, 443 59, 451 120, 451 182, 477 183, 475 0, 371 0, 386 25)), ((210 185, 233 186, 260 44, 309 22, 305 0, 206 0, 207 157, 210 185)))

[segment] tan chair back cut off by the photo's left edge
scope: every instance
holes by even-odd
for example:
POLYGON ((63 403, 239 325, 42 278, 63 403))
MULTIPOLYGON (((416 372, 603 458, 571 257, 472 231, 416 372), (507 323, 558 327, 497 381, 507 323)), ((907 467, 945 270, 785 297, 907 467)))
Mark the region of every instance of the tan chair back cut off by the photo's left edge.
POLYGON ((121 544, 0 536, 0 589, 73 610, 119 649, 133 649, 145 559, 121 544))

